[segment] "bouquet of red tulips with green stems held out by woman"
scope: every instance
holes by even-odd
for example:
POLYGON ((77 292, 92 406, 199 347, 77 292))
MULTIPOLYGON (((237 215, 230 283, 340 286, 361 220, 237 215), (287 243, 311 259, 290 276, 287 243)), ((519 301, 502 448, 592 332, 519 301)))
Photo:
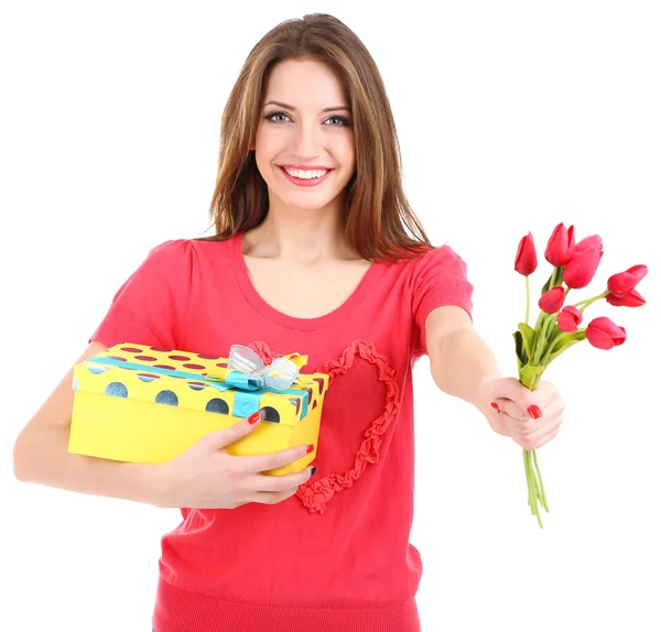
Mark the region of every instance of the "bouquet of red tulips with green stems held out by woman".
MULTIPOLYGON (((606 288, 589 298, 571 304, 567 297, 572 290, 586 287, 593 280, 604 254, 602 238, 598 235, 575 242, 574 227, 568 229, 559 224, 544 251, 544 258, 553 271, 542 287, 539 299, 540 315, 534 327, 528 324, 530 315, 530 275, 537 270, 538 258, 532 233, 519 242, 514 270, 525 276, 525 322, 519 323, 513 333, 519 381, 527 389, 534 390, 542 373, 561 353, 576 342, 587 339, 597 349, 613 349, 621 345, 627 334, 606 316, 593 318, 587 327, 581 327, 585 309, 605 298, 615 307, 639 307, 644 298, 636 285, 647 274, 646 265, 633 265, 608 279, 606 288)), ((544 484, 538 465, 535 450, 523 450, 525 479, 528 481, 528 504, 539 525, 543 529, 538 503, 549 511, 544 484)))

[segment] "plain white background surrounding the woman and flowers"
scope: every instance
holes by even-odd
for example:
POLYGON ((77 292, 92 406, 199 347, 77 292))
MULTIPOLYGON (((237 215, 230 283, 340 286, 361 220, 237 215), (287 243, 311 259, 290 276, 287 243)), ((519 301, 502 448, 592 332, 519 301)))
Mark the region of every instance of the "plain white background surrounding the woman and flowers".
MULTIPOLYGON (((423 631, 661 629, 658 4, 403 7, 2 9, 0 629, 150 629, 159 538, 178 512, 19 483, 11 448, 148 251, 205 233, 239 68, 267 31, 310 11, 343 20, 375 57, 410 201, 432 241, 467 261, 475 325, 505 371, 516 371, 524 283, 513 258, 529 230, 541 252, 560 221, 578 239, 603 237, 599 271, 574 298, 650 268, 638 287, 648 305, 586 312, 625 326, 625 345, 584 342, 545 374, 567 407, 538 451, 543 531, 525 503, 521 448, 438 391, 426 359, 416 364, 411 541, 424 563, 423 631)), ((540 259, 535 292, 550 272, 540 259)))

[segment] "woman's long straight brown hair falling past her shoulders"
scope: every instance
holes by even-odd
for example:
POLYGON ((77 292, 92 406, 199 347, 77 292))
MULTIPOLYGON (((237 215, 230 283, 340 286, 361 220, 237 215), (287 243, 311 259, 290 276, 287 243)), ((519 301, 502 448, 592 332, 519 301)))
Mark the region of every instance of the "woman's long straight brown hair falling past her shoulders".
POLYGON ((267 216, 267 183, 250 146, 270 72, 285 59, 325 63, 350 99, 356 172, 347 183, 344 207, 347 243, 368 261, 410 259, 429 250, 430 240, 402 188, 399 140, 377 65, 358 36, 326 13, 282 22, 250 51, 220 124, 218 175, 209 209, 216 235, 199 240, 228 239, 256 228, 267 216))

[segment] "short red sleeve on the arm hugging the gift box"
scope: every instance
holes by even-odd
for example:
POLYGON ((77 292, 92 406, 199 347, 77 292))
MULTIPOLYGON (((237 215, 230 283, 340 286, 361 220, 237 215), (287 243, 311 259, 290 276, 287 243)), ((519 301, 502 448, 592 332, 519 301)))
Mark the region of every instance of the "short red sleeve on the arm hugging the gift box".
POLYGON ((195 302, 197 269, 192 240, 174 239, 150 250, 116 292, 89 341, 176 348, 195 302))

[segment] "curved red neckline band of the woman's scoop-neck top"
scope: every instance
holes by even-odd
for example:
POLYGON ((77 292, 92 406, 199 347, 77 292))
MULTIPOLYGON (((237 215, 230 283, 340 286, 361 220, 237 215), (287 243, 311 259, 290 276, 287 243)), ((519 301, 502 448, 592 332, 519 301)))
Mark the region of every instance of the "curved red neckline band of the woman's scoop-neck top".
POLYGON ((314 318, 300 318, 296 316, 290 316, 279 309, 275 309, 270 303, 262 298, 261 294, 256 290, 250 279, 248 265, 243 257, 243 232, 238 232, 228 240, 229 253, 231 268, 235 276, 243 293, 243 296, 258 312, 260 312, 267 318, 274 323, 288 327, 290 329, 302 329, 312 330, 321 329, 337 323, 339 319, 347 316, 353 309, 355 309, 367 296, 367 292, 372 283, 381 275, 384 269, 384 264, 378 261, 371 263, 367 269, 360 282, 347 299, 323 316, 315 316, 314 318))

